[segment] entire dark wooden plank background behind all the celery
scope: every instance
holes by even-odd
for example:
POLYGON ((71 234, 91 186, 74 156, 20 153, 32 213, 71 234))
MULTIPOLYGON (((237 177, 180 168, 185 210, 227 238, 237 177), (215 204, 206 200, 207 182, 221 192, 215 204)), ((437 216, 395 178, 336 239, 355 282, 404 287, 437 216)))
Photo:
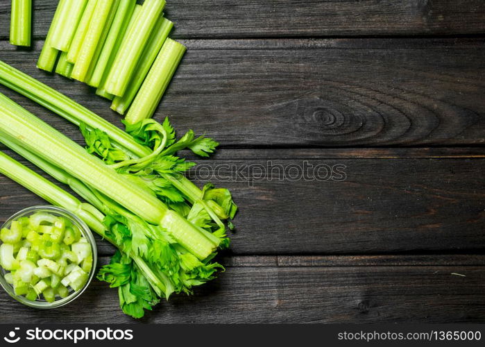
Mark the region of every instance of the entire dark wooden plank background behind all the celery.
MULTIPOLYGON (((0 1, 0 59, 120 125, 85 85, 35 68, 56 3, 35 1, 33 49, 15 49, 0 1)), ((156 118, 221 142, 198 162, 224 164, 220 178, 250 164, 340 164, 346 179, 242 170, 252 184, 219 183, 240 208, 226 273, 143 322, 485 322, 485 1, 172 0, 166 13, 188 52, 156 118)), ((0 221, 40 203, 0 178, 0 221)), ((99 241, 101 262, 112 251, 99 241)), ((46 312, 0 292, 0 314, 133 322, 97 280, 46 312)))

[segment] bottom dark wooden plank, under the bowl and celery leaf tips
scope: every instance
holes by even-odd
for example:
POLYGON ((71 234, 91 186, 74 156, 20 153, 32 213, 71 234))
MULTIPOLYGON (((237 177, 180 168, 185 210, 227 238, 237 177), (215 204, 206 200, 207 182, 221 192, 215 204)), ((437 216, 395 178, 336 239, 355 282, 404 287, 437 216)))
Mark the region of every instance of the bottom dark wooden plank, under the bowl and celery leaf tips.
MULTIPOLYGON (((117 291, 97 280, 56 310, 33 310, 3 291, 0 307, 8 312, 3 323, 134 322, 119 310, 117 291)), ((194 296, 173 296, 141 322, 483 323, 484 307, 485 266, 228 266, 194 296)))

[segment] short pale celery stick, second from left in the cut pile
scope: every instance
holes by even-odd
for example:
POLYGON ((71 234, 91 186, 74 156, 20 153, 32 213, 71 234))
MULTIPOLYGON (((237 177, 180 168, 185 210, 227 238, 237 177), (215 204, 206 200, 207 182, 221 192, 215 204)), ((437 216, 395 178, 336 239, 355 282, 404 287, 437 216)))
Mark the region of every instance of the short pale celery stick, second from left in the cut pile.
POLYGON ((56 31, 51 37, 51 46, 59 51, 67 52, 76 28, 83 17, 87 0, 66 0, 61 8, 56 31))

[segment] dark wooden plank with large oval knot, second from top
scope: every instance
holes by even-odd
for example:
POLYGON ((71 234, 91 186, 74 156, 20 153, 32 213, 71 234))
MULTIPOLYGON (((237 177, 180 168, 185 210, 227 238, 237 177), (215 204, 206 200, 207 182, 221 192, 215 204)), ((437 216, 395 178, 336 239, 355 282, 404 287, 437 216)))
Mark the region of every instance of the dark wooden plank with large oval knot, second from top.
MULTIPOLYGON (((36 51, 0 59, 119 123, 108 101, 35 68, 36 51)), ((484 40, 204 40, 189 47, 157 119, 222 146, 434 146, 485 143, 484 40)), ((16 101, 79 139, 23 97, 16 101)))

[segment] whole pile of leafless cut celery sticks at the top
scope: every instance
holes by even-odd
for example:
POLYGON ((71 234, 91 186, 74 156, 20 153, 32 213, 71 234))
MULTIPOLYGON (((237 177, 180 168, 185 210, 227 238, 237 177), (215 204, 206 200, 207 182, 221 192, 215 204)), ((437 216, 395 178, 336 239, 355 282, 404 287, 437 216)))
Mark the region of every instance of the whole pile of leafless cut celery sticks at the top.
POLYGON ((185 53, 167 39, 173 23, 163 17, 165 0, 136 2, 60 0, 37 62, 95 87, 121 115, 133 103, 130 124, 153 116, 185 53))

